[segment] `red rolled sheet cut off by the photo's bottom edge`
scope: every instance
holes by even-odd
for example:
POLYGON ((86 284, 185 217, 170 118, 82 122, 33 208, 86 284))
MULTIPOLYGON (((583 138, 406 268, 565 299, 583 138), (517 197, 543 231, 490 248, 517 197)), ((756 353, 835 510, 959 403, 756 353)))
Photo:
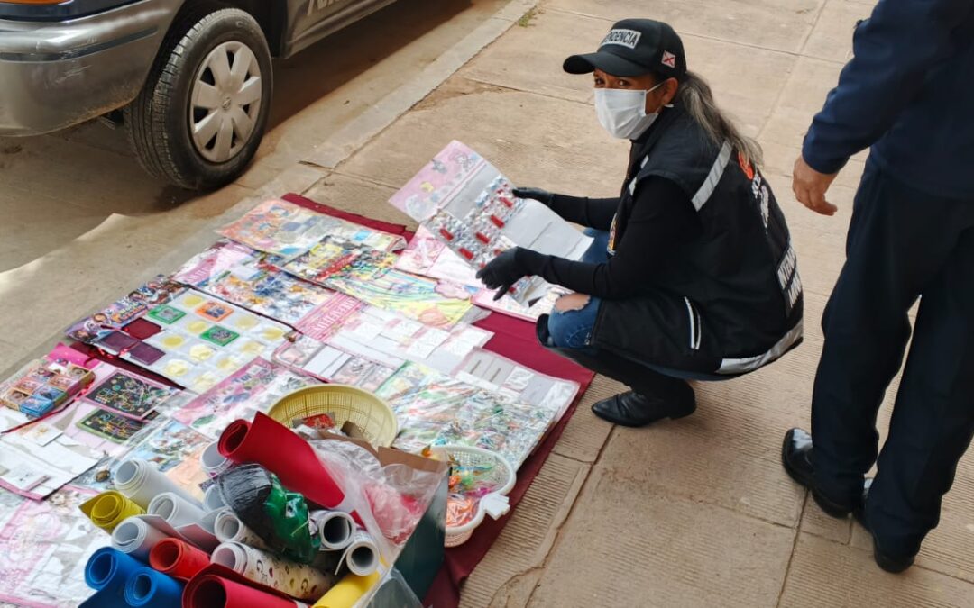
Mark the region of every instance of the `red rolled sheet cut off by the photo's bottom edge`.
POLYGON ((307 604, 252 583, 233 570, 209 565, 190 579, 182 608, 298 608, 307 604))

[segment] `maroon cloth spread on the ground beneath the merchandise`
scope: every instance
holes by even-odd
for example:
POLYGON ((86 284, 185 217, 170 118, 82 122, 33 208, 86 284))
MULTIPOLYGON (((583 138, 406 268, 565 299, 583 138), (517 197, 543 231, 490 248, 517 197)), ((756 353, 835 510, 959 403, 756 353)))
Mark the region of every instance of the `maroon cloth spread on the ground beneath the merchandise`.
MULTIPOLYGON (((301 205, 308 209, 313 209, 319 213, 325 213, 334 217, 356 222, 362 226, 367 226, 383 232, 402 234, 407 240, 412 238, 413 233, 406 230, 404 226, 380 222, 371 218, 366 218, 355 213, 341 211, 328 205, 323 205, 309 198, 289 194, 283 197, 284 200, 301 205)), ((535 326, 529 321, 515 319, 500 313, 492 313, 489 317, 475 323, 477 327, 494 332, 494 338, 487 342, 487 349, 505 356, 512 361, 527 366, 537 372, 548 376, 556 376, 568 380, 575 380, 581 385, 579 397, 576 402, 565 412, 561 420, 544 437, 541 445, 524 461, 521 468, 517 471, 517 483, 508 493, 511 510, 517 507, 528 487, 538 476, 544 461, 549 453, 558 443, 565 425, 575 412, 575 407, 581 398, 582 393, 591 384, 595 375, 585 368, 546 350, 535 338, 535 326)), ((510 516, 501 519, 484 519, 484 522, 477 526, 466 543, 460 547, 453 547, 446 550, 443 566, 440 568, 436 580, 433 581, 430 591, 424 599, 424 605, 434 606, 435 608, 452 608, 460 604, 460 588, 464 581, 473 572, 480 560, 490 549, 497 539, 501 530, 507 523, 510 516)))

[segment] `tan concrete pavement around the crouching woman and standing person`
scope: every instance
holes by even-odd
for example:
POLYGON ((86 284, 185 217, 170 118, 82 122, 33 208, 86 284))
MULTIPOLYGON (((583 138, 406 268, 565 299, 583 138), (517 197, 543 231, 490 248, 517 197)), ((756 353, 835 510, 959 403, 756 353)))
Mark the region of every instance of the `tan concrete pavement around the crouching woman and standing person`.
MULTIPOLYGON (((814 215, 794 201, 791 163, 850 53, 855 19, 867 16, 871 5, 543 0, 537 12, 518 20, 532 4, 511 3, 503 22, 468 30, 487 36, 481 28, 506 29, 471 60, 466 57, 479 47, 461 40, 449 47, 455 54, 431 61, 418 78, 436 84, 453 66, 463 67, 429 94, 402 81, 401 89, 390 88, 393 93, 346 123, 351 125, 346 131, 365 132, 368 138, 317 140, 318 146, 292 157, 303 162, 281 160, 269 168, 276 182, 265 192, 303 192, 327 204, 407 222, 387 198, 456 138, 517 184, 612 196, 618 193, 627 146, 597 124, 590 81, 562 73, 561 61, 594 49, 618 18, 662 18, 684 36, 691 69, 711 83, 718 101, 765 147, 765 172, 799 253, 806 339, 766 370, 698 385, 696 414, 651 429, 595 419, 587 406, 619 389, 597 378, 469 579, 463 604, 974 606, 970 456, 944 502, 940 527, 928 538, 917 567, 901 576, 880 572, 867 535, 850 520, 822 515, 778 462, 784 431, 808 424, 811 378, 821 348, 818 319, 843 263, 844 232, 863 157, 851 161, 833 186, 831 200, 841 208, 835 218, 814 215), (515 9, 518 15, 511 18, 515 9), (414 97, 422 100, 412 105, 414 97), (405 113, 399 117, 399 112, 405 113)), ((294 135, 294 141, 303 138, 294 135)), ((191 228, 217 223, 220 212, 238 212, 234 203, 240 198, 257 196, 239 184, 207 203, 180 209, 181 219, 172 224, 166 214, 116 217, 62 250, 0 275, 0 315, 8 326, 22 319, 0 344, 26 348, 48 340, 83 310, 110 300, 141 276, 173 268, 202 248, 208 236, 196 232, 187 240, 191 228), (120 263, 120 253, 141 266, 120 263), (110 275, 95 278, 105 267, 110 275), (48 278, 52 272, 55 279, 48 278), (71 284, 71 276, 78 282, 71 284), (31 311, 38 302, 43 310, 31 311)), ((881 429, 888 413, 889 403, 880 414, 881 429)))

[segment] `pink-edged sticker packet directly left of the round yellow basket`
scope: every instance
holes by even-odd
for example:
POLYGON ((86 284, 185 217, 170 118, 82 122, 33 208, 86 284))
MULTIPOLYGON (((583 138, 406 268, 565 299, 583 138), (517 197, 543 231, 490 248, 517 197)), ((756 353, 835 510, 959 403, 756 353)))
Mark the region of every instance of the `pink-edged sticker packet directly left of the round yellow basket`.
MULTIPOLYGON (((289 343, 285 342, 281 347, 289 343)), ((230 422, 238 418, 250 419, 257 411, 266 413, 284 395, 318 383, 313 377, 297 374, 258 357, 173 412, 172 417, 215 440, 230 422)))

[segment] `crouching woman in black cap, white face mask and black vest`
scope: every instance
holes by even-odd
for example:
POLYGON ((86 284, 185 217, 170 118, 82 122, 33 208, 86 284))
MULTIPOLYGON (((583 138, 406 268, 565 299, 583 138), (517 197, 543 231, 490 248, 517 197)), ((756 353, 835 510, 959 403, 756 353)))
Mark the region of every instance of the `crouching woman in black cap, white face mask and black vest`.
POLYGON ((538 336, 632 389, 596 403, 597 415, 627 426, 689 415, 688 378, 752 372, 802 340, 802 284, 760 149, 687 71, 665 23, 619 21, 564 69, 593 74, 599 122, 631 140, 620 196, 515 191, 589 227, 594 242, 581 262, 510 249, 477 276, 502 295, 525 275, 576 292, 538 336))

